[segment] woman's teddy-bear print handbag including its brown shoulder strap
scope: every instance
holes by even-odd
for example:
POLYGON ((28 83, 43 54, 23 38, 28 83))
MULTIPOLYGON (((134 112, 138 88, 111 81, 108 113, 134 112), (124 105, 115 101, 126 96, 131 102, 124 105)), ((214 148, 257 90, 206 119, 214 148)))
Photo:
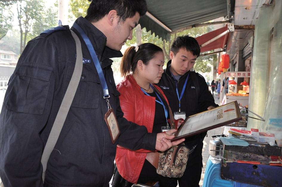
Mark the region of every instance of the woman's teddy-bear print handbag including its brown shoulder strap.
MULTIPOLYGON (((152 85, 154 90, 164 99, 164 96, 152 85)), ((165 99, 164 99, 165 100, 165 99)), ((166 101, 166 100, 165 100, 166 101)), ((172 111, 169 108, 169 120, 171 127, 175 128, 172 111)), ((182 177, 189 157, 188 147, 182 143, 171 147, 165 152, 147 153, 146 159, 156 168, 156 172, 164 177, 182 177)))

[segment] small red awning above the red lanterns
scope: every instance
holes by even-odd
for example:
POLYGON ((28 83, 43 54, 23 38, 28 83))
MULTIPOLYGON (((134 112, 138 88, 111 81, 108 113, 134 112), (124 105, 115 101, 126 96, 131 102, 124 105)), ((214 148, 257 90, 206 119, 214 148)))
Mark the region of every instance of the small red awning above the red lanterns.
POLYGON ((216 29, 207 34, 195 38, 201 46, 201 52, 210 51, 213 49, 224 49, 229 35, 227 25, 220 29, 216 29))

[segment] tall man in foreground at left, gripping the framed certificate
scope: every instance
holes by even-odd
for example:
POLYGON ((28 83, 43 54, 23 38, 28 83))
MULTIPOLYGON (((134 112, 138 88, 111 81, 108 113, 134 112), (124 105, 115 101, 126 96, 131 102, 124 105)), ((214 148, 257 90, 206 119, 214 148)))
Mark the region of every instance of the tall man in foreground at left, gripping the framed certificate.
MULTIPOLYGON (((83 69, 58 141, 49 157, 45 187, 109 186, 116 145, 164 151, 173 144, 166 133, 148 133, 123 118, 112 57, 132 39, 132 29, 147 11, 146 1, 92 1, 85 18, 71 28, 81 41, 83 69), (76 26, 75 26, 76 25, 76 26), (89 38, 108 87, 120 137, 115 144, 104 120, 108 111, 101 80, 88 46, 89 38), (167 139, 166 139, 167 138, 167 139)), ((24 49, 10 79, 0 115, 0 177, 5 187, 42 187, 41 155, 72 77, 75 41, 68 26, 41 33, 24 49)), ((81 62, 82 63, 82 62, 81 62)), ((97 67, 97 66, 96 66, 97 67)))

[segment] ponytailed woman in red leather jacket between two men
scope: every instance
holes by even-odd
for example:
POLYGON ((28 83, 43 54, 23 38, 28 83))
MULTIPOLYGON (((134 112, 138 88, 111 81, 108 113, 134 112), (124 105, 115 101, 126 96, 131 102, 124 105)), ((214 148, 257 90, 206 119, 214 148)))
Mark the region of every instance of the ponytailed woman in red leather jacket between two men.
MULTIPOLYGON (((154 85, 163 97, 151 85, 161 79, 163 66, 163 50, 152 43, 127 48, 121 60, 121 75, 125 78, 117 85, 117 90, 120 92, 124 117, 144 125, 150 133, 162 132, 161 129, 167 127, 169 119, 167 98, 161 88, 154 85)), ((159 181, 160 186, 171 186, 170 178, 157 174, 156 168, 146 160, 149 152, 145 149, 131 151, 118 146, 115 156, 118 171, 112 185, 131 186, 134 183, 159 181)))

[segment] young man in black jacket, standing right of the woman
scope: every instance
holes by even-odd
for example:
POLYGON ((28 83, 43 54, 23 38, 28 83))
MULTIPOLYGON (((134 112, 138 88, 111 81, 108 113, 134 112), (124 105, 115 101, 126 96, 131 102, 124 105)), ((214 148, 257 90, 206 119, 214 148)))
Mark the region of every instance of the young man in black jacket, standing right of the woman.
MULTIPOLYGON (((171 60, 161 77, 158 86, 167 96, 175 119, 210 110, 215 104, 207 83, 200 74, 190 71, 200 55, 200 46, 195 38, 178 37, 171 46, 171 60)), ((192 153, 189 155, 184 175, 178 179, 180 187, 199 186, 202 171, 202 148, 205 133, 186 138, 185 144, 192 153)), ((177 184, 177 179, 171 179, 177 184)))

